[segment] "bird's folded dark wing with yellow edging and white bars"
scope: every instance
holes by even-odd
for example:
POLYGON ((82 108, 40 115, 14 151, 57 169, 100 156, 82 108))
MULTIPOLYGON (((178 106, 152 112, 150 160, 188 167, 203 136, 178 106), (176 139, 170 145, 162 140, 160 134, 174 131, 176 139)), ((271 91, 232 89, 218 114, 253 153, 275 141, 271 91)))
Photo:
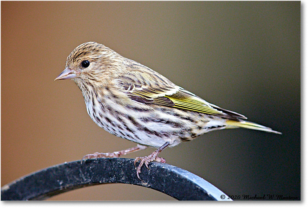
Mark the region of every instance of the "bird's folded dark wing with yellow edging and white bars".
POLYGON ((129 98, 138 103, 168 106, 170 108, 200 112, 229 119, 247 119, 239 113, 210 104, 176 85, 165 85, 163 87, 156 85, 153 87, 151 85, 139 86, 132 83, 124 83, 124 87, 129 98))

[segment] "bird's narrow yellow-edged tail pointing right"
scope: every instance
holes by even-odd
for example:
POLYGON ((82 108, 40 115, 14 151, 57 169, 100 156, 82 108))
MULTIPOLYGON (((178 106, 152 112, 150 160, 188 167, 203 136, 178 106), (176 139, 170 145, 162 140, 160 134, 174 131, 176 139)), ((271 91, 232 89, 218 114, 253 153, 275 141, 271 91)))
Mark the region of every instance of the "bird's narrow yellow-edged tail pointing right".
POLYGON ((227 124, 226 128, 249 128, 249 129, 260 130, 264 132, 282 134, 281 132, 274 131, 269 127, 262 126, 260 124, 256 124, 250 121, 227 120, 226 124, 227 124))

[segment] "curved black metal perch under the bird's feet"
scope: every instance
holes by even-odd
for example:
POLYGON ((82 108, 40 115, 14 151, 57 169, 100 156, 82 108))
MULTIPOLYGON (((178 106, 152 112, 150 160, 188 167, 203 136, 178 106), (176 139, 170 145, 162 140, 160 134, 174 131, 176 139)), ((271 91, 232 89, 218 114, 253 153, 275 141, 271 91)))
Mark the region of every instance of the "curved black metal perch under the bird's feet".
MULTIPOLYGON (((39 170, 1 188, 1 200, 43 200, 51 196, 104 183, 126 183, 148 187, 178 200, 231 200, 201 177, 164 163, 143 167, 140 181, 133 159, 99 158, 65 162, 39 170)), ((151 200, 149 198, 149 200, 151 200)))

